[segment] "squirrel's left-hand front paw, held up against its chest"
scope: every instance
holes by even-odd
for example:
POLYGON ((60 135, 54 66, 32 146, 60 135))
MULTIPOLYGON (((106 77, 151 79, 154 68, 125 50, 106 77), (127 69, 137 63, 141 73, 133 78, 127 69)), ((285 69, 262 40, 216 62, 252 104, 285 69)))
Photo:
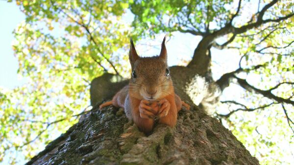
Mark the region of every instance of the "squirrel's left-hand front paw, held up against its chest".
POLYGON ((154 114, 157 113, 151 106, 150 102, 147 100, 141 100, 139 105, 139 112, 141 118, 148 118, 148 119, 154 119, 154 114))

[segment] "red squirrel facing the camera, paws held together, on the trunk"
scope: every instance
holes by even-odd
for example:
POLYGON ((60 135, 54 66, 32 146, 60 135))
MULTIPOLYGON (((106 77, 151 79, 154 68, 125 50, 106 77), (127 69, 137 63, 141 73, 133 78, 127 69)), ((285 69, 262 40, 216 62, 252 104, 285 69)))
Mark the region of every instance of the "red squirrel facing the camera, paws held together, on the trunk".
POLYGON ((175 126, 177 113, 184 105, 190 106, 174 93, 167 64, 166 37, 161 44, 159 56, 139 57, 130 38, 129 61, 131 78, 111 101, 99 106, 123 107, 126 117, 133 120, 140 131, 149 134, 158 119, 159 123, 175 126))

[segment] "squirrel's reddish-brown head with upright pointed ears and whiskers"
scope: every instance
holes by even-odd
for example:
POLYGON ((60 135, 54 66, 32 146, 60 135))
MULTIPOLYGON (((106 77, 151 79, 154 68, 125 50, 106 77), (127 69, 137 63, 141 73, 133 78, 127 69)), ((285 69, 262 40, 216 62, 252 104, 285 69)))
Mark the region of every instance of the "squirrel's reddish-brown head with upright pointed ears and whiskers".
POLYGON ((173 92, 172 79, 167 62, 166 37, 161 44, 159 56, 139 57, 132 39, 129 60, 132 74, 130 95, 138 99, 159 100, 173 92))

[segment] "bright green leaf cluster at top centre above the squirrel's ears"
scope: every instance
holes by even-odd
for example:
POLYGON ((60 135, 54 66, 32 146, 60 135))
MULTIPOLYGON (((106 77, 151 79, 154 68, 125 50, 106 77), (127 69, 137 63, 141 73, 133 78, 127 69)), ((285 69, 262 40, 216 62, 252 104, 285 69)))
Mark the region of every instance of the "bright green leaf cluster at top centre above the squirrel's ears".
POLYGON ((133 25, 143 27, 141 32, 150 29, 150 35, 160 31, 205 33, 206 29, 212 31, 225 23, 233 12, 225 7, 230 3, 232 0, 169 0, 165 3, 135 0, 131 5, 136 16, 133 25), (213 28, 209 27, 211 22, 216 23, 213 28))

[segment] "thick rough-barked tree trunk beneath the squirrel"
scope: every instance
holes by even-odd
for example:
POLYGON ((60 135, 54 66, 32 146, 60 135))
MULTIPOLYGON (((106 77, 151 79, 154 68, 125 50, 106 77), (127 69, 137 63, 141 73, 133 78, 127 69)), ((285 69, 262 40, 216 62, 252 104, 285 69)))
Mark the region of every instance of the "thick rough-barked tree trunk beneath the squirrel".
POLYGON ((122 108, 99 111, 95 106, 26 165, 259 165, 229 130, 185 94, 190 70, 173 67, 171 72, 176 93, 191 105, 179 112, 175 128, 158 124, 147 137, 122 108))

